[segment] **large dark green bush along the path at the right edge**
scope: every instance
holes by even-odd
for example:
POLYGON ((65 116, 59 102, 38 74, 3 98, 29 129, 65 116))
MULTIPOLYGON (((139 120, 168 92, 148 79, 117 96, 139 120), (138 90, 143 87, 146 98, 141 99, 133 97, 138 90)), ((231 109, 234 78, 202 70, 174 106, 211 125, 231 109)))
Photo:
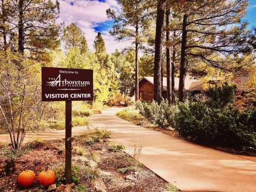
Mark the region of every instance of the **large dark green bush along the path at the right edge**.
POLYGON ((200 142, 256 149, 255 112, 239 112, 230 106, 212 109, 202 102, 187 102, 179 105, 175 125, 182 136, 200 142))

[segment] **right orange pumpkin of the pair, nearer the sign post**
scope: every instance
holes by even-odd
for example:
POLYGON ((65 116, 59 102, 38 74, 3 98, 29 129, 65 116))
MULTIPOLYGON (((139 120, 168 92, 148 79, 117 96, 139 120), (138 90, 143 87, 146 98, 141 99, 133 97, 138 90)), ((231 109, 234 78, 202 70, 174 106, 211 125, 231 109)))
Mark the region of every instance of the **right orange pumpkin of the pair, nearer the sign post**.
POLYGON ((55 181, 56 175, 55 172, 53 172, 52 170, 46 170, 45 172, 39 173, 39 175, 37 176, 37 183, 45 187, 54 184, 55 181))

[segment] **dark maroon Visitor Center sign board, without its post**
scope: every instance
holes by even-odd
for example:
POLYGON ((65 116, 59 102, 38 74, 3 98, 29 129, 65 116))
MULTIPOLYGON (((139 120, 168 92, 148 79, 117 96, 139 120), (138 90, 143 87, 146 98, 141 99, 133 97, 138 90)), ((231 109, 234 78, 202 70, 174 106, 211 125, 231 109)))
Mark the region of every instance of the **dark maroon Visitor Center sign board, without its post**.
POLYGON ((42 101, 93 100, 93 70, 42 67, 42 101))

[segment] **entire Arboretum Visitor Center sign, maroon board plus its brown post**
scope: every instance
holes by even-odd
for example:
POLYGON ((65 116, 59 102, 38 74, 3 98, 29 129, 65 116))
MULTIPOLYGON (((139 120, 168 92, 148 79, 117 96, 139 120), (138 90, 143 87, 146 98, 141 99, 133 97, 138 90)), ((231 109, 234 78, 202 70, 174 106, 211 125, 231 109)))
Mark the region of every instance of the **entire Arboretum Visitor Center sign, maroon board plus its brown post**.
POLYGON ((72 101, 93 100, 93 70, 42 67, 42 101, 66 101, 65 178, 71 183, 72 101))

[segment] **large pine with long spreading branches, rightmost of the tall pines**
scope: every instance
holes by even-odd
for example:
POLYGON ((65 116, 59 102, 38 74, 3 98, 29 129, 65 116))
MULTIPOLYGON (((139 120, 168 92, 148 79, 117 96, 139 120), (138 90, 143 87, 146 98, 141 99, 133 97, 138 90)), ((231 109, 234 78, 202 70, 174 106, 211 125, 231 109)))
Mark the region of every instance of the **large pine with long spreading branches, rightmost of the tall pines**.
MULTIPOLYGON (((189 61, 202 60, 210 66, 225 69, 227 54, 248 54, 249 44, 246 23, 241 23, 248 5, 247 0, 199 0, 188 1, 182 20, 179 100, 184 99, 184 78, 189 61), (222 57, 212 57, 221 54, 222 57)), ((179 10, 180 10, 179 8, 179 10)))

